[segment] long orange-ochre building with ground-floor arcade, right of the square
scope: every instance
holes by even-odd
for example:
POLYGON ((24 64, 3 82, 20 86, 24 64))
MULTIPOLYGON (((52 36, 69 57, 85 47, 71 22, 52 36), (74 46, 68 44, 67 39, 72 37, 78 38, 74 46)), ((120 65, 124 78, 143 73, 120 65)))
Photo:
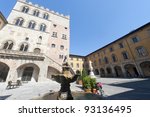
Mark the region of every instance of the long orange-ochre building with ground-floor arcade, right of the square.
POLYGON ((150 77, 150 23, 85 57, 101 77, 150 77))

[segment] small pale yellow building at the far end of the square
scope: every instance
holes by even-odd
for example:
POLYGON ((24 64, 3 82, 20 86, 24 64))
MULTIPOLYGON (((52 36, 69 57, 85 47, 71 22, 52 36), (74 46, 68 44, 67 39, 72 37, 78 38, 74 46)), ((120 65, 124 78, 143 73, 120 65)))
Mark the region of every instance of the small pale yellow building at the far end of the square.
POLYGON ((84 68, 84 58, 84 56, 70 54, 69 65, 72 67, 75 73, 82 73, 82 70, 84 68))

